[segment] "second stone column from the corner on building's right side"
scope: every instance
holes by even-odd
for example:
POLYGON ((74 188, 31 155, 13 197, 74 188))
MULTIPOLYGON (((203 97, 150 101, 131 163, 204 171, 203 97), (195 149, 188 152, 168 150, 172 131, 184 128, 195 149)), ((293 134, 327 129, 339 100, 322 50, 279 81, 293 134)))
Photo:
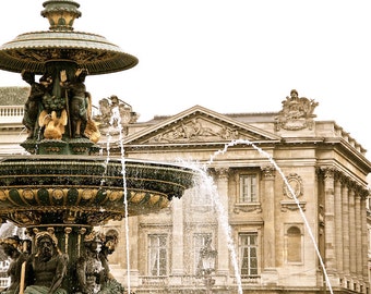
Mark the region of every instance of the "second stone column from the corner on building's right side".
POLYGON ((338 273, 343 273, 343 209, 342 209, 342 182, 339 174, 335 174, 335 252, 336 252, 336 269, 338 273))

